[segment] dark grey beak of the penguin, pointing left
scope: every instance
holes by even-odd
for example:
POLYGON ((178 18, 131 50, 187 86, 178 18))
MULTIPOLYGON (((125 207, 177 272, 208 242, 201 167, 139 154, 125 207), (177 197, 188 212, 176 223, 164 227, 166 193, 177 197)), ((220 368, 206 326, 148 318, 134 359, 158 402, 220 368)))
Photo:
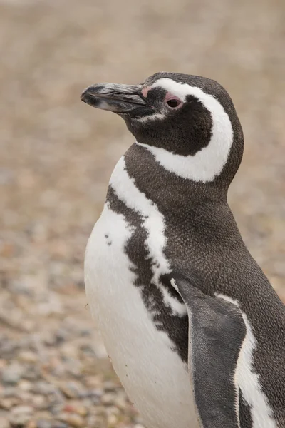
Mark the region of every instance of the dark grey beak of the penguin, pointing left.
MULTIPOLYGON (((83 91, 81 100, 96 108, 110 110, 118 114, 128 114, 147 106, 142 98, 141 89, 141 85, 97 83, 83 91)), ((147 108, 149 109, 150 106, 147 108)))

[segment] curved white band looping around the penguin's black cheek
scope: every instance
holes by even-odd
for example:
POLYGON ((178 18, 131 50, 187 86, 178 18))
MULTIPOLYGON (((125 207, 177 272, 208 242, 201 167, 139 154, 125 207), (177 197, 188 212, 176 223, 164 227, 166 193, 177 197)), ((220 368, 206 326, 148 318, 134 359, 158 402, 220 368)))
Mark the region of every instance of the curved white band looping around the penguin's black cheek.
MULTIPOLYGON (((151 86, 151 88, 156 87, 173 93, 182 101, 186 100, 187 95, 195 96, 212 115, 212 137, 208 146, 198 151, 195 156, 176 155, 166 151, 165 148, 148 146, 140 142, 137 144, 147 148, 165 169, 182 178, 203 183, 214 180, 222 172, 232 146, 233 131, 229 116, 214 96, 204 93, 202 89, 195 86, 178 83, 170 78, 161 78, 151 86)), ((165 118, 164 115, 154 114, 145 116, 145 121, 160 118, 160 116, 165 118)))

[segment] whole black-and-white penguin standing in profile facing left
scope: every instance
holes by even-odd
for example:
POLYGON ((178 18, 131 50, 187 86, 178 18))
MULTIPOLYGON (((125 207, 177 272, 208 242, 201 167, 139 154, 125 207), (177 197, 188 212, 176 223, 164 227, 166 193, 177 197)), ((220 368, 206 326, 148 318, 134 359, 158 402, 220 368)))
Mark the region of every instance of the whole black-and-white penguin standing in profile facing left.
POLYGON ((88 241, 88 302, 147 428, 284 428, 285 310, 227 190, 244 138, 209 78, 99 83, 91 106, 135 137, 88 241))

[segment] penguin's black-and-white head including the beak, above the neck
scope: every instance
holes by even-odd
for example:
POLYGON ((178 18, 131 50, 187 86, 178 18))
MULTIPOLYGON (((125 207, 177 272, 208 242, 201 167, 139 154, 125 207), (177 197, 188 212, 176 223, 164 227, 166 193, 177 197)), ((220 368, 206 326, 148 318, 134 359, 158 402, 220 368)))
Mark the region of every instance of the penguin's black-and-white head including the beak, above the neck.
POLYGON ((155 73, 137 86, 89 86, 81 99, 121 116, 136 143, 182 178, 227 186, 239 168, 242 127, 229 94, 216 81, 155 73))

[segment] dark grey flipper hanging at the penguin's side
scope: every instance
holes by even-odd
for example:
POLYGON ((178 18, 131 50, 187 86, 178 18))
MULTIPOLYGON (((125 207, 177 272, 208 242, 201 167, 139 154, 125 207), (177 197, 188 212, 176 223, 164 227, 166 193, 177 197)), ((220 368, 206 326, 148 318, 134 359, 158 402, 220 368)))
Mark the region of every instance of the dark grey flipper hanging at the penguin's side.
POLYGON ((188 280, 172 285, 187 306, 188 367, 203 428, 239 428, 239 390, 234 384, 246 326, 239 307, 202 293, 188 280))

